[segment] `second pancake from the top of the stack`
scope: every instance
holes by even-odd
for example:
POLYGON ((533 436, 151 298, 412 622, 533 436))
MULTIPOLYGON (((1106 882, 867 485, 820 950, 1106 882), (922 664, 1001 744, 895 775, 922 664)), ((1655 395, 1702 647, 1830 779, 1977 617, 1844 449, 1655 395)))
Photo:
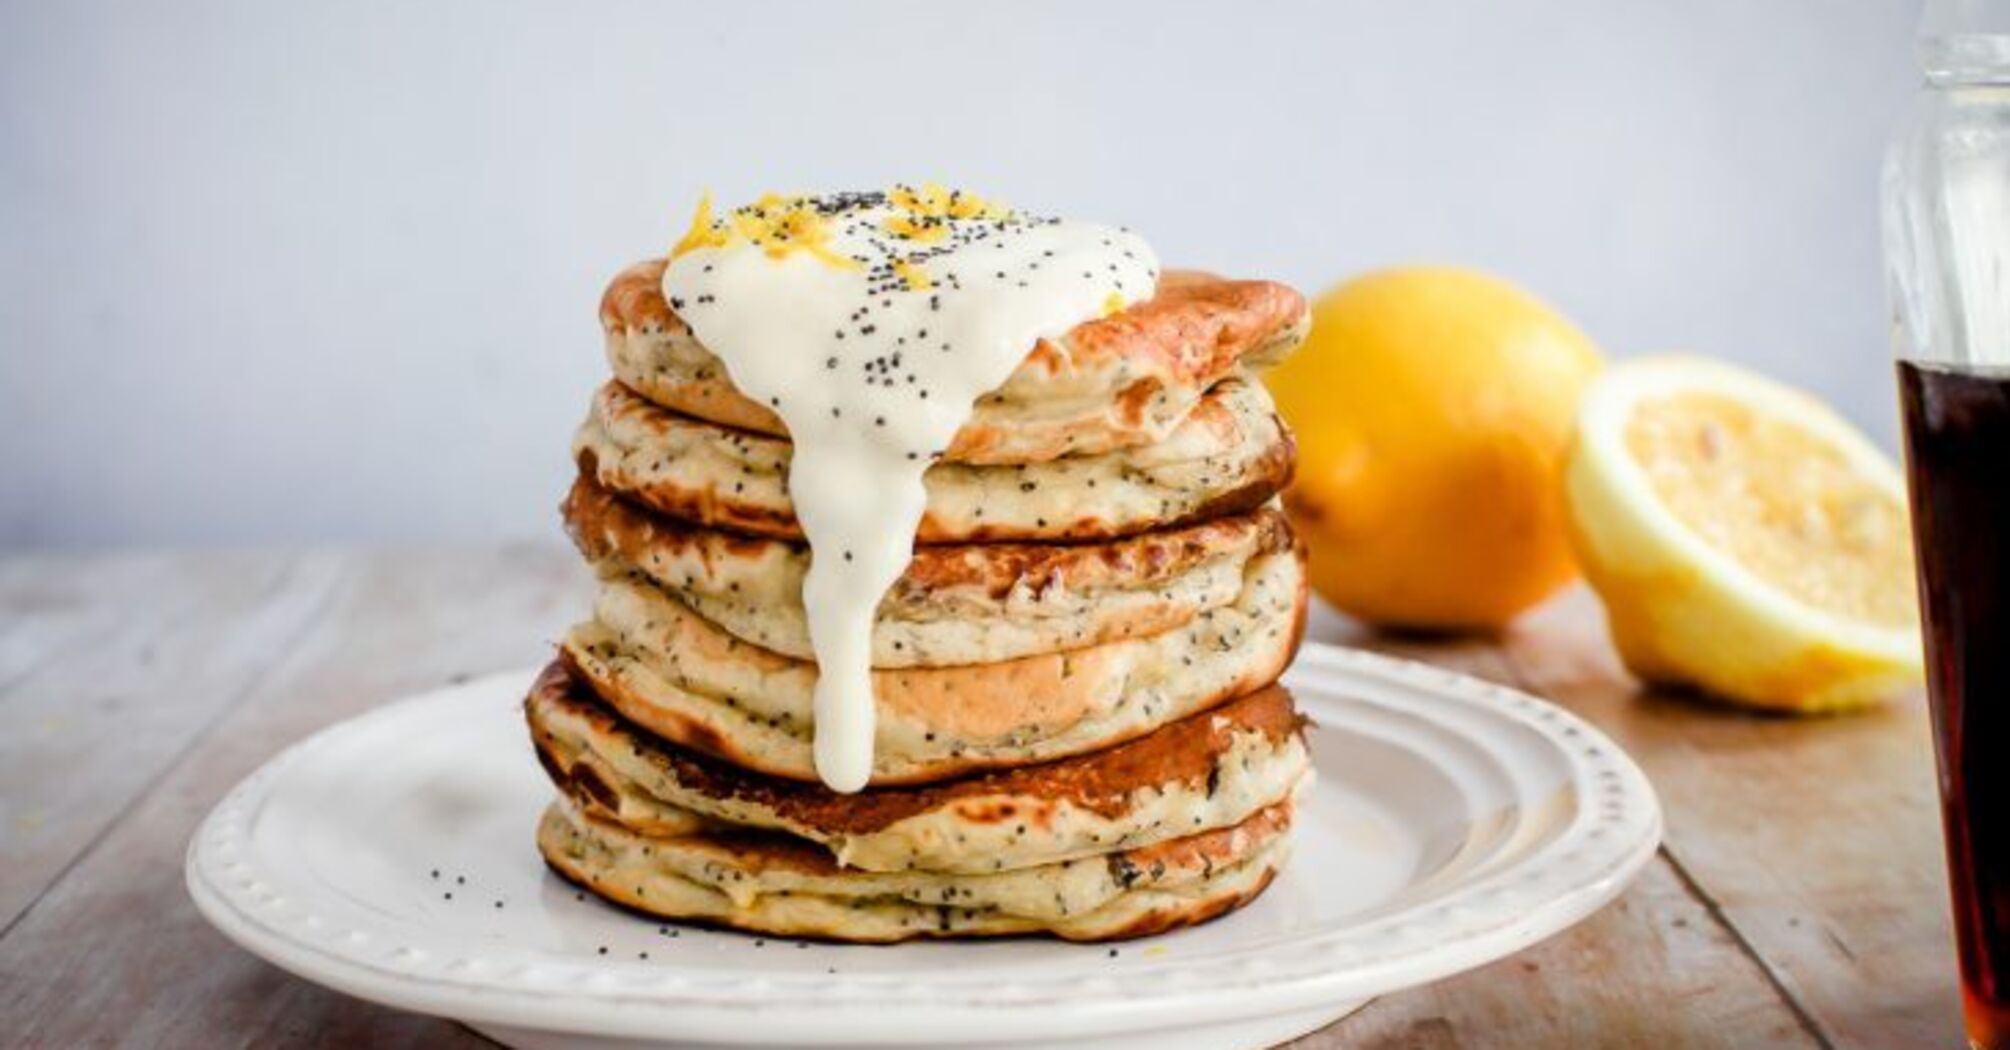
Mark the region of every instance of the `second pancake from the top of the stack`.
MULTIPOLYGON (((784 439, 681 416, 609 382, 573 436, 573 457, 601 487, 665 515, 802 539, 784 439)), ((1270 394, 1226 380, 1150 447, 1019 467, 937 463, 915 539, 1108 539, 1246 513, 1290 481, 1292 459, 1270 394)))

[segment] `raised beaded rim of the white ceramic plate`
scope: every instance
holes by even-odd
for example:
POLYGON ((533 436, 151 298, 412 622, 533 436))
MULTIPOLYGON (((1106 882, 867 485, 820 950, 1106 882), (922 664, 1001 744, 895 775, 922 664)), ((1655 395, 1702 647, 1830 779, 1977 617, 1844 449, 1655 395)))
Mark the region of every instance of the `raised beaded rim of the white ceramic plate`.
MULTIPOLYGON (((1065 984, 1049 982, 1055 988, 1043 998, 1023 994, 1001 998, 997 984, 987 986, 987 994, 981 996, 945 998, 941 984, 933 980, 860 974, 738 978, 740 984, 760 988, 752 992, 740 988, 728 996, 720 994, 722 988, 708 990, 708 982, 693 984, 667 964, 651 964, 645 980, 635 980, 635 964, 571 957, 545 966, 555 972, 545 974, 545 984, 523 980, 500 984, 498 978, 468 976, 466 959, 446 964, 448 968, 462 964, 460 976, 442 974, 436 959, 410 945, 390 953, 402 966, 336 951, 291 929, 304 917, 279 915, 277 905, 285 903, 285 897, 255 875, 239 877, 235 883, 225 879, 229 873, 251 869, 251 861, 239 859, 235 847, 247 843, 257 813, 255 803, 269 795, 279 774, 295 762, 344 736, 368 732, 374 722, 398 718, 414 706, 500 690, 505 684, 525 684, 533 674, 533 670, 500 672, 392 700, 322 728, 263 762, 211 809, 189 839, 185 879, 197 909, 237 945, 306 980, 396 1008, 490 1024, 631 1038, 675 1034, 716 1042, 925 1042, 931 1030, 955 1030, 959 1040, 967 1040, 973 1032, 961 1026, 997 1024, 1001 1016, 1011 1016, 1013 1028, 993 1030, 995 1038, 1085 1036, 1355 1002, 1493 961, 1610 903, 1652 859, 1662 837, 1660 803, 1646 774, 1618 744, 1580 716, 1510 686, 1445 668, 1306 642, 1284 684, 1304 694, 1337 694, 1311 696, 1304 702, 1315 718, 1323 704, 1373 702, 1349 696, 1345 676, 1383 680, 1429 694, 1433 700, 1453 700, 1540 734, 1570 762, 1570 786, 1586 799, 1558 841, 1485 879, 1457 883, 1447 897, 1427 897, 1365 923, 1375 937, 1385 937, 1385 951, 1377 959, 1357 959, 1351 966, 1331 966, 1337 955, 1323 949, 1331 949, 1335 941, 1359 941, 1365 935, 1361 929, 1349 929, 1347 937, 1335 937, 1331 931, 1306 933, 1288 943, 1294 953, 1288 961, 1174 959, 1116 974, 1071 974, 1065 984), (1327 686, 1306 682, 1321 674, 1339 674, 1343 680, 1327 686), (1598 807, 1592 805, 1590 791, 1602 797, 1598 807), (1624 827, 1630 835, 1586 839, 1586 829, 1596 819, 1624 827), (1491 901, 1473 907, 1463 895, 1481 887, 1491 901), (1439 929, 1425 937, 1433 923, 1431 915, 1421 915, 1423 911, 1435 909, 1435 919, 1443 923, 1453 919, 1455 909, 1467 907, 1485 921, 1465 915, 1451 933, 1439 929), (400 957, 400 951, 406 955, 400 957), (1325 955, 1329 966, 1319 966, 1309 955, 1325 955), (1053 1006, 1065 1010, 1043 1010, 1053 1006), (756 1010, 758 1020, 752 1016, 756 1010), (838 1036, 832 1030, 834 1012, 852 1014, 848 1020, 862 1018, 866 1026, 848 1028, 838 1036)), ((1381 706, 1393 704, 1381 702, 1381 706)), ((1411 708, 1395 708, 1417 714, 1411 708)), ((1363 947, 1357 943, 1355 951, 1363 947)), ((378 947, 378 953, 384 949, 378 947)), ((724 982, 712 976, 710 984, 724 982)), ((1037 980, 1003 984, 1039 988, 1037 980)))

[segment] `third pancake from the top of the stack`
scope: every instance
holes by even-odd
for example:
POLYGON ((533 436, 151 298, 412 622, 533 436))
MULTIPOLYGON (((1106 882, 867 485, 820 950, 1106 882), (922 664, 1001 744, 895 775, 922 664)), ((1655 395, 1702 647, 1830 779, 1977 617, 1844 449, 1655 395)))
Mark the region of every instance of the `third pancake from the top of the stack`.
MULTIPOLYGON (((581 477, 565 527, 589 561, 635 569, 742 642, 810 660, 810 551, 689 525, 581 477)), ((1276 507, 1095 545, 917 547, 878 605, 872 664, 993 664, 1160 634, 1228 605, 1248 565, 1294 541, 1276 507)))

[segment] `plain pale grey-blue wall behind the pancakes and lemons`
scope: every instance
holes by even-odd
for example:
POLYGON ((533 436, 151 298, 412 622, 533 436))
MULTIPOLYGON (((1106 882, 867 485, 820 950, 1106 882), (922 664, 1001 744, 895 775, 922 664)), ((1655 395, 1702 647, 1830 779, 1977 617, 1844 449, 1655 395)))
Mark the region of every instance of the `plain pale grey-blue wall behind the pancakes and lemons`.
POLYGON ((703 187, 1495 270, 1893 439, 1897 0, 0 4, 0 545, 549 535, 703 187))

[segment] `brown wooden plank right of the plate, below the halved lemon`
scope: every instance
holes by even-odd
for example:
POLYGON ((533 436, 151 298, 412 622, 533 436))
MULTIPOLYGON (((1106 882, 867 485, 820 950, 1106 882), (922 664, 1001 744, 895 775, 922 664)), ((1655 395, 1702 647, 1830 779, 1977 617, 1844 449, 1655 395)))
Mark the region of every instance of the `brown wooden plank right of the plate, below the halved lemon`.
POLYGON ((1825 1044, 1964 1044, 1920 700, 1803 720, 1644 690, 1584 591, 1518 624, 1501 654, 1646 768, 1666 853, 1825 1044))

